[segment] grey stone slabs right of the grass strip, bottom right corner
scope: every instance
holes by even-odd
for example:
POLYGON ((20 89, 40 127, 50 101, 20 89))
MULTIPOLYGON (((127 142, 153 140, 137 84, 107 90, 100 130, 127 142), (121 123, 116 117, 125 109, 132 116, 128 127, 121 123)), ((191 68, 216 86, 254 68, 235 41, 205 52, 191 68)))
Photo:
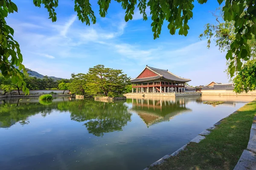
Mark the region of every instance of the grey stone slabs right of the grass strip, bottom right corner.
POLYGON ((256 170, 256 116, 250 130, 250 139, 234 170, 256 170))

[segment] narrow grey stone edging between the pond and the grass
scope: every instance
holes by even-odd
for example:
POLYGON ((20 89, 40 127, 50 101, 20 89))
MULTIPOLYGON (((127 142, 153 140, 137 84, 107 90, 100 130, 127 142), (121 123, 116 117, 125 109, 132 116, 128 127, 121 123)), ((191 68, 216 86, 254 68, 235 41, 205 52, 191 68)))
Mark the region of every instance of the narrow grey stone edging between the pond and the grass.
MULTIPOLYGON (((233 112, 233 113, 236 113, 233 112)), ((233 113, 231 113, 230 115, 232 115, 233 113)), ((230 116, 228 115, 228 116, 230 116)), ((228 116, 224 117, 223 119, 227 118, 228 116)), ((177 156, 182 150, 185 150, 187 145, 191 142, 195 142, 195 143, 199 143, 201 142, 201 140, 204 140, 205 139, 205 136, 209 135, 211 133, 210 130, 213 130, 215 129, 216 126, 220 125, 221 124, 221 121, 223 120, 221 119, 220 121, 218 121, 217 123, 215 123, 214 125, 212 125, 211 127, 207 128, 206 130, 202 131, 201 133, 199 133, 198 136, 196 136, 194 139, 192 139, 190 142, 188 142, 187 144, 185 144, 183 147, 180 147, 180 149, 176 150, 174 153, 172 153, 171 155, 166 155, 166 156, 163 156, 161 159, 159 159, 158 161, 155 161, 153 164, 151 164, 150 166, 146 167, 145 169, 143 170, 149 170, 149 167, 153 167, 154 165, 157 165, 157 164, 161 164, 163 163, 163 161, 166 161, 166 159, 169 159, 171 158, 172 156, 177 156)), ((256 123, 256 116, 255 116, 255 123, 256 123)), ((255 127, 256 127, 256 124, 255 124, 255 127)), ((256 133, 255 133, 256 134, 256 133)), ((238 169, 237 169, 238 170, 238 169)), ((256 168, 254 169, 256 170, 256 168)))

